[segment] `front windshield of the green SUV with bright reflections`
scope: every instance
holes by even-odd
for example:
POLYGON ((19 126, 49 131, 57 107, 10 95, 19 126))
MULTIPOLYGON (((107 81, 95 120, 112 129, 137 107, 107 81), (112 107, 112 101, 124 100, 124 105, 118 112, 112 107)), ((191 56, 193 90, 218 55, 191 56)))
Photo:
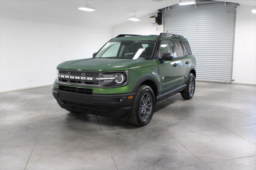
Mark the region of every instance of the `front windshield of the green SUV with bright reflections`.
POLYGON ((146 41, 108 42, 95 58, 150 59, 156 43, 146 41))

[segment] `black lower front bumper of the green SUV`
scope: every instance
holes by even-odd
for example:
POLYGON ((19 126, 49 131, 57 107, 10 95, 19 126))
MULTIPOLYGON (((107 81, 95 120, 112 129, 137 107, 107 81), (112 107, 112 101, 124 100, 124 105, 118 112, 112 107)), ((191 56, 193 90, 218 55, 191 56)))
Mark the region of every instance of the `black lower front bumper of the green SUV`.
POLYGON ((52 94, 60 107, 68 111, 121 118, 130 113, 133 98, 128 99, 128 96, 134 97, 135 92, 115 95, 85 95, 53 88, 52 94))

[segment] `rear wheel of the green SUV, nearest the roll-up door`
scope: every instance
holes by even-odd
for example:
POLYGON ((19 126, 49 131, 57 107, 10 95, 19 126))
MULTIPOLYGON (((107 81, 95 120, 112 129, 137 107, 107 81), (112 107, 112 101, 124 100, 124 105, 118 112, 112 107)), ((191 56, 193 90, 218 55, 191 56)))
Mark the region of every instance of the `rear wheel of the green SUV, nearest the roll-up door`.
POLYGON ((183 99, 189 100, 189 99, 192 99, 192 97, 194 96, 195 88, 196 88, 195 77, 192 73, 188 75, 188 80, 186 84, 187 84, 186 89, 184 89, 181 92, 181 96, 183 99))

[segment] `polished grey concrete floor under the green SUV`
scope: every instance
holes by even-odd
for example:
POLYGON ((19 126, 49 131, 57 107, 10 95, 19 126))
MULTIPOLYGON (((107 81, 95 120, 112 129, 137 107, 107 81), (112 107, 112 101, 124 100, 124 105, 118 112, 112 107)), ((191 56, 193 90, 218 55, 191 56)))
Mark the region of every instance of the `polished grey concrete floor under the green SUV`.
POLYGON ((0 94, 0 169, 256 169, 255 86, 196 82, 145 127, 73 115, 51 88, 0 94))

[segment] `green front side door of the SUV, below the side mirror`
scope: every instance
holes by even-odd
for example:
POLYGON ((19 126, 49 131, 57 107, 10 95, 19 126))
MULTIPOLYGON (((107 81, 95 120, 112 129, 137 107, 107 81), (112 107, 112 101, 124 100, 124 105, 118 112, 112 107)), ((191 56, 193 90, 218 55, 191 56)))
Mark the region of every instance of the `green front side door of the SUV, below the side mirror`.
MULTIPOLYGON (((173 53, 170 40, 163 40, 159 47, 158 59, 163 53, 173 53)), ((181 61, 174 58, 172 61, 156 60, 161 78, 161 93, 178 87, 179 85, 179 65, 181 61)))

